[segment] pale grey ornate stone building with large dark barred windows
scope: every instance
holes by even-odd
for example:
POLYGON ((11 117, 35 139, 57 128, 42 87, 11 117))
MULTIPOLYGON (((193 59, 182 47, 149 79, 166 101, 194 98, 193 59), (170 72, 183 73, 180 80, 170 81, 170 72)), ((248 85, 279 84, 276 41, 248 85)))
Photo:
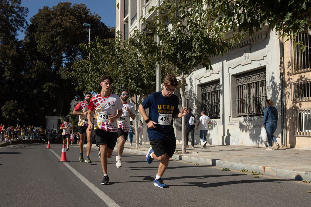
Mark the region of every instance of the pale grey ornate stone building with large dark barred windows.
MULTIPOLYGON (((151 20, 155 11, 148 11, 157 5, 158 0, 117 0, 117 10, 122 8, 121 4, 126 5, 126 2, 129 5, 129 13, 136 13, 137 20, 141 16, 151 20), (131 11, 132 4, 136 5, 136 11, 131 11)), ((134 29, 141 30, 138 21, 127 26, 129 35, 134 29)), ((149 31, 146 31, 146 35, 154 36, 149 31)), ((201 110, 207 111, 207 115, 212 119, 208 144, 265 145, 260 132, 267 99, 274 101, 281 120, 279 45, 278 34, 264 26, 252 38, 245 38, 241 43, 234 45, 230 52, 213 57, 213 70, 198 68, 188 76, 185 87, 186 106, 193 108, 196 122, 201 110)), ((179 95, 178 92, 176 95, 179 95)), ((138 119, 142 120, 142 117, 138 115, 138 119)), ((179 119, 174 122, 174 128, 176 139, 180 140, 179 119)), ((279 143, 284 142, 281 140, 284 137, 281 131, 282 124, 279 121, 275 133, 279 143)), ((144 137, 147 141, 146 134, 144 137)), ((195 144, 202 144, 197 131, 195 144)))

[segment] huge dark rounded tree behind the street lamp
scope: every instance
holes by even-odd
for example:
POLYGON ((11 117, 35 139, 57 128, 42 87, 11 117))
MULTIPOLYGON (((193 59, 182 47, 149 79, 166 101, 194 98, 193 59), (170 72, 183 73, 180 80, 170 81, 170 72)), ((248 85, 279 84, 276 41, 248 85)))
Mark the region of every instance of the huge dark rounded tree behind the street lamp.
POLYGON ((72 99, 83 97, 81 90, 74 90, 78 83, 71 68, 74 61, 88 57, 78 47, 81 42, 88 42, 88 28, 83 23, 91 24, 91 40, 114 34, 84 4, 62 2, 51 8, 45 6, 30 22, 25 36, 28 62, 21 84, 27 88, 21 91, 35 108, 37 120, 44 122, 44 116, 68 114, 72 99))

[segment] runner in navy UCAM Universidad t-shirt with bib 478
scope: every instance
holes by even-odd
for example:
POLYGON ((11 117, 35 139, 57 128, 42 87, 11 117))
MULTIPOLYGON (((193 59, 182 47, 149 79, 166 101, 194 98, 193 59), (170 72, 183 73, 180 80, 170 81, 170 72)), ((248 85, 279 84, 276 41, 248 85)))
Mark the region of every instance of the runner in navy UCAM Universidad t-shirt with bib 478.
POLYGON ((139 106, 139 112, 148 126, 150 148, 146 160, 160 161, 158 173, 153 182, 155 186, 166 187, 161 177, 169 165, 169 158, 176 149, 176 138, 173 128, 173 118, 179 119, 187 114, 186 107, 178 109, 179 99, 173 93, 176 91, 178 81, 172 74, 167 74, 163 80, 163 90, 150 94, 139 106), (149 116, 146 109, 150 108, 149 116))

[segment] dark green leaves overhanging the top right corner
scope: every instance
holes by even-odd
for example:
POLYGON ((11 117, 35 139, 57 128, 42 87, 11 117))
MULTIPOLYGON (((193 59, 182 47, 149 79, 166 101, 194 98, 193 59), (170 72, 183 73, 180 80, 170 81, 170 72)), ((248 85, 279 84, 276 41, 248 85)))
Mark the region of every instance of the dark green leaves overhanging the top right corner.
MULTIPOLYGON (((210 2, 210 1, 209 1, 210 2)), ((223 18, 217 22, 229 26, 234 31, 247 32, 251 36, 255 31, 268 24, 271 29, 280 31, 281 36, 296 36, 307 32, 311 26, 310 0, 217 0, 212 1, 214 9, 223 18)))

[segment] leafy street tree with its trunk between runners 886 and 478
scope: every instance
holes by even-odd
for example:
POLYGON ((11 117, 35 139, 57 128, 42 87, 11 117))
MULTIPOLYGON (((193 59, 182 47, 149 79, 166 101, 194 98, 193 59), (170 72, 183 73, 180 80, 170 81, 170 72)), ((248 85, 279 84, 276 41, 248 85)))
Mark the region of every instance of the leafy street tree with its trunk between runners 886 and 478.
MULTIPOLYGON (((103 74, 109 74, 114 79, 112 91, 116 94, 122 89, 130 91, 129 99, 136 105, 136 113, 143 97, 155 92, 154 74, 157 60, 154 54, 158 51, 158 45, 151 37, 135 31, 128 40, 123 41, 121 32, 118 32, 117 37, 110 41, 97 38, 94 43, 91 43, 91 48, 85 43, 80 46, 91 52, 91 58, 78 61, 73 65, 75 76, 80 83, 77 89, 100 92, 99 78, 103 74), (134 95, 137 101, 132 99, 134 95)), ((160 63, 163 67, 166 65, 165 62, 160 63)), ((137 119, 135 119, 135 127, 138 128, 137 119)), ((138 138, 136 133, 137 148, 139 148, 138 138)))

